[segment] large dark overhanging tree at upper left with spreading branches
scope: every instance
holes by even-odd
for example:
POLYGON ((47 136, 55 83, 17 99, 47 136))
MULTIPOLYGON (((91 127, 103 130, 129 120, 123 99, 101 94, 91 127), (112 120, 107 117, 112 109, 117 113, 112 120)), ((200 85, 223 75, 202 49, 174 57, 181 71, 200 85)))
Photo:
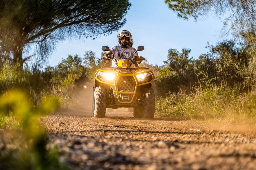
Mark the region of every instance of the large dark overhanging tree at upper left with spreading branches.
POLYGON ((128 0, 2 0, 0 57, 22 65, 33 44, 37 59, 45 61, 58 42, 118 31, 130 6, 128 0))

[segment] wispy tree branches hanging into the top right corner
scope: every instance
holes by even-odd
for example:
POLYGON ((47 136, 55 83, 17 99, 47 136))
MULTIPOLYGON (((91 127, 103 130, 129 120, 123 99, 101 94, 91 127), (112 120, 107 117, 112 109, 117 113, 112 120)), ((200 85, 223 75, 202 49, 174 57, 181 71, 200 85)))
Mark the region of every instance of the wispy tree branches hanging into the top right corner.
POLYGON ((255 30, 256 2, 250 0, 165 0, 165 4, 173 10, 178 17, 195 21, 207 19, 209 16, 223 20, 223 36, 232 31, 236 37, 241 32, 255 30), (228 15, 228 17, 227 17, 228 15))

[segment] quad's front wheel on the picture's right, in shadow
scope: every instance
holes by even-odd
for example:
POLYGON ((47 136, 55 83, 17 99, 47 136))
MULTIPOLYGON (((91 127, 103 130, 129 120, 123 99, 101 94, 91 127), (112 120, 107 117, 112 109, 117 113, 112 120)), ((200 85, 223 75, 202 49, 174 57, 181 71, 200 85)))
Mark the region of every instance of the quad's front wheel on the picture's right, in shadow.
POLYGON ((144 106, 142 109, 142 117, 153 119, 155 114, 155 92, 152 88, 144 90, 144 106))

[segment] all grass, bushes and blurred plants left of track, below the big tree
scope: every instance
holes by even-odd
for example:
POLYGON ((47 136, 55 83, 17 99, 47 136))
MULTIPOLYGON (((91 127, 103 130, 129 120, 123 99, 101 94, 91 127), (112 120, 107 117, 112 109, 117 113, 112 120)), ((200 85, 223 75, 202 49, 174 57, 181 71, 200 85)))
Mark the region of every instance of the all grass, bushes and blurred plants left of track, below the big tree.
POLYGON ((86 51, 53 67, 0 64, 0 169, 72 169, 48 141, 40 116, 56 108, 84 110, 83 101, 73 98, 74 78, 82 71, 92 77, 104 63, 86 51))

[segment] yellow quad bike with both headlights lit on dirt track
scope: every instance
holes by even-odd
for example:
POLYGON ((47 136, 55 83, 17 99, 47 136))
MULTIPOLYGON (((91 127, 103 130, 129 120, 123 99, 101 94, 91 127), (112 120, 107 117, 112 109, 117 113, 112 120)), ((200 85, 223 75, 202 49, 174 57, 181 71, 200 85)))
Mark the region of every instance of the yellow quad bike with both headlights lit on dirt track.
MULTIPOLYGON (((110 51, 108 46, 103 46, 102 50, 110 51)), ((138 46, 134 53, 142 50, 144 46, 138 46)), ((118 62, 115 56, 108 56, 108 60, 111 59, 117 67, 101 67, 95 73, 92 115, 103 118, 106 115, 106 108, 132 107, 135 118, 154 118, 155 93, 151 88, 151 83, 155 79, 153 72, 146 67, 130 67, 139 61, 138 56, 133 56, 130 60, 121 59, 118 62)))

